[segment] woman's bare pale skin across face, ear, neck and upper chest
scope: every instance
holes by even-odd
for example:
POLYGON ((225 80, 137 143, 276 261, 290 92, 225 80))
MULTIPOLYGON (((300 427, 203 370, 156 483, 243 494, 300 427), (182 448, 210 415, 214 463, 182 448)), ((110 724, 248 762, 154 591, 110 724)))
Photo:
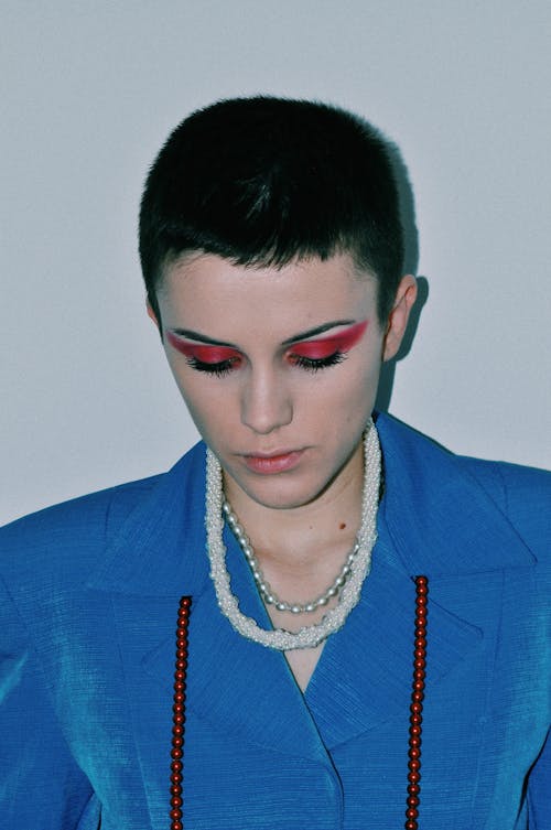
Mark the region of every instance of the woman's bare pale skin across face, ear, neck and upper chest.
MULTIPOLYGON (((166 269, 158 301, 170 367, 268 581, 288 600, 322 593, 354 543, 361 435, 414 300, 404 277, 381 326, 377 282, 347 255, 277 269, 198 254, 166 269), (312 370, 309 360, 335 352, 338 362, 312 370), (220 359, 219 374, 197 370, 220 359)), ((270 614, 289 629, 305 624, 270 614)), ((301 688, 321 647, 310 651, 288 655, 301 688)))

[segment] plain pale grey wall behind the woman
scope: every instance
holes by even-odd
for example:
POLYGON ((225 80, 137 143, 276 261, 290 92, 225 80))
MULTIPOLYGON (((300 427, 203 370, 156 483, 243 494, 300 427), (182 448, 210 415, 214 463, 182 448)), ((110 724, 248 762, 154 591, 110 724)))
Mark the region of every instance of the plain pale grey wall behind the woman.
POLYGON ((3 1, 0 522, 196 438, 143 311, 143 176, 197 106, 349 107, 398 142, 430 287, 390 411, 551 465, 548 0, 3 1))

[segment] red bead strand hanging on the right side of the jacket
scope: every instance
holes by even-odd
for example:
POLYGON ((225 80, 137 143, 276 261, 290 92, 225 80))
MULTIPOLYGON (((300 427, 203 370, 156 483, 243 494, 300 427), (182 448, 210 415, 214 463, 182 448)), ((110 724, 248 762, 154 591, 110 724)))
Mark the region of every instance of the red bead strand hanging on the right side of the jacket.
POLYGON ((418 830, 419 805, 421 801, 421 733, 423 729, 424 677, 426 672, 426 601, 429 594, 429 580, 426 576, 415 576, 415 638, 410 705, 406 830, 418 830))

